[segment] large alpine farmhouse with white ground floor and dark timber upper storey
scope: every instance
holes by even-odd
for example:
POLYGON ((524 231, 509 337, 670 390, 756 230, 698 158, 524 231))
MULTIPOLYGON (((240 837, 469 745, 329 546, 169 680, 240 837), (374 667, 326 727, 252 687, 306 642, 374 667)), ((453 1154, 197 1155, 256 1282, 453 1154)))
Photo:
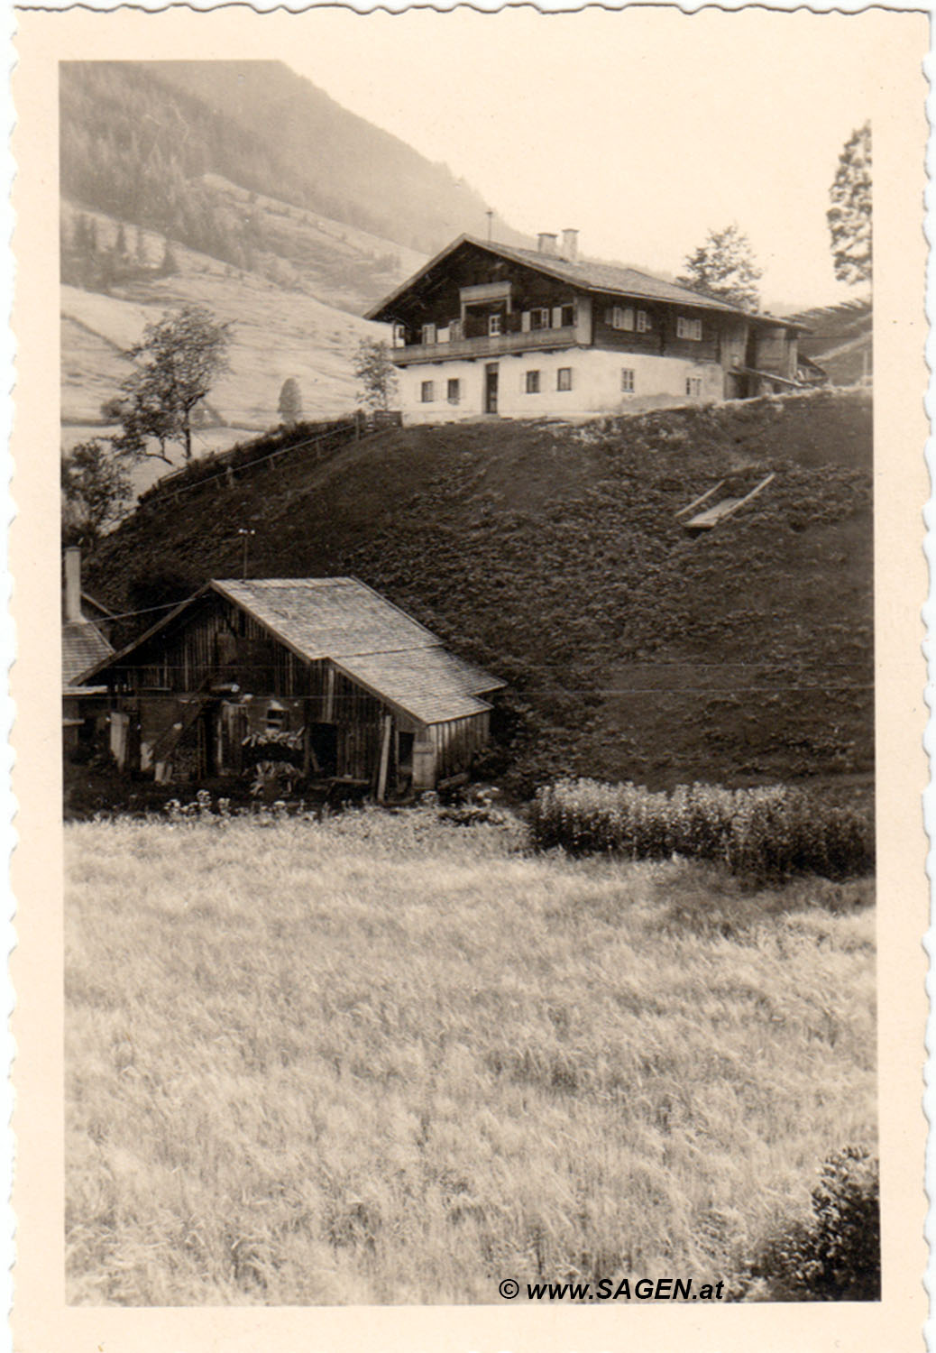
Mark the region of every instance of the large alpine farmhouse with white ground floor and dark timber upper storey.
POLYGON ((793 322, 633 268, 460 235, 367 315, 392 325, 403 421, 567 417, 794 388, 793 322))

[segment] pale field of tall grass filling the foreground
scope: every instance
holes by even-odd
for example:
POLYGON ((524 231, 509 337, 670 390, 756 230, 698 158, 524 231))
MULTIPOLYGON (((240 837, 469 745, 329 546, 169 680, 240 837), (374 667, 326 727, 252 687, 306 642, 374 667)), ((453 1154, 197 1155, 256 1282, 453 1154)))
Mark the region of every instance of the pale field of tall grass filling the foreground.
POLYGON ((737 1289, 874 1149, 870 881, 431 810, 72 824, 66 861, 70 1302, 737 1289))

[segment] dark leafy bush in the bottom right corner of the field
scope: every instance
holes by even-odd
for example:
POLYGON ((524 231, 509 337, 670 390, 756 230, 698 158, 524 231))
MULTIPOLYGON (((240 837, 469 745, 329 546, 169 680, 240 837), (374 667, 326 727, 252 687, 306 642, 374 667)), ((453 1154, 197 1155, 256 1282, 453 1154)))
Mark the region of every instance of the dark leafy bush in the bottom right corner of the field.
POLYGON ((878 1160, 847 1146, 813 1189, 812 1219, 768 1242, 751 1268, 771 1302, 881 1300, 878 1160))

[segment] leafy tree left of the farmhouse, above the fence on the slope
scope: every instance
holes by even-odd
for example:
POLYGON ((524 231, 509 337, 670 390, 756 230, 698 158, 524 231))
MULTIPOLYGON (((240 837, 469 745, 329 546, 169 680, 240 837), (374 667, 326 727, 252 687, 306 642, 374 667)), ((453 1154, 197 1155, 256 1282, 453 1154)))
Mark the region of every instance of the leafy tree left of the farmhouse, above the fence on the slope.
POLYGON ((172 464, 166 445, 181 442, 185 460, 192 459, 195 409, 227 371, 230 327, 202 306, 185 306, 146 326, 128 353, 137 369, 123 382, 123 395, 104 406, 106 417, 122 423, 114 438, 119 452, 172 464))

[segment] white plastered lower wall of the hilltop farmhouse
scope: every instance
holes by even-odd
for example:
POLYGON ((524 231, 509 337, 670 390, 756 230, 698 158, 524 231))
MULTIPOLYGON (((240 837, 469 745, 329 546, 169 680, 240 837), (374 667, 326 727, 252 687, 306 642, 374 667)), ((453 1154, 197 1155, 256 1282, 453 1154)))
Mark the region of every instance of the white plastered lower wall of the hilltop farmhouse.
POLYGON ((725 398, 724 372, 716 361, 596 348, 540 349, 404 367, 403 422, 456 422, 488 413, 491 367, 496 367, 496 413, 502 418, 594 418, 725 398), (538 375, 532 377, 532 372, 538 375))

